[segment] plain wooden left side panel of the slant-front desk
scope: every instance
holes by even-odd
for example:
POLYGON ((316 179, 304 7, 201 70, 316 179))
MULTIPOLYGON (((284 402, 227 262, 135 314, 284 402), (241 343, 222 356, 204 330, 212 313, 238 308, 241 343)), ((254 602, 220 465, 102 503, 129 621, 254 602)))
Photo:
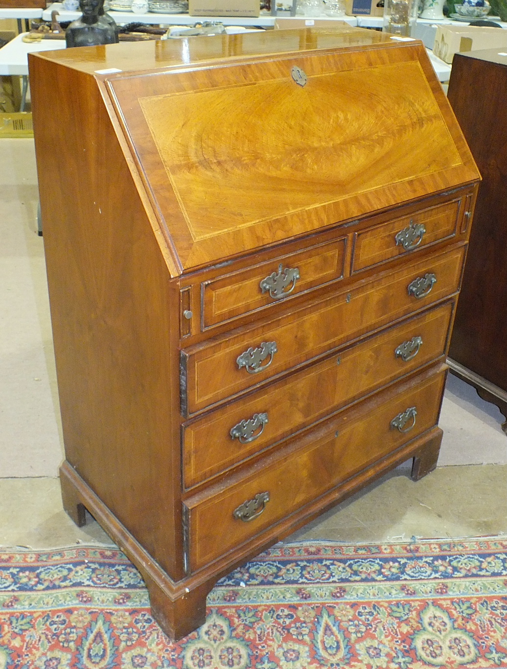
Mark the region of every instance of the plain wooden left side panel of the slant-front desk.
POLYGON ((177 282, 94 78, 34 58, 31 95, 66 457, 178 579, 177 282))

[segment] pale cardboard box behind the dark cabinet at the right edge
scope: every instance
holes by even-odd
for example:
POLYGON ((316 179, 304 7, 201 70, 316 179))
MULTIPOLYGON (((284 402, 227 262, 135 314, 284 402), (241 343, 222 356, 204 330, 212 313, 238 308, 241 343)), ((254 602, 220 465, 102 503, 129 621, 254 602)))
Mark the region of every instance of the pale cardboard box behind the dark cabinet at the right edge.
POLYGON ((507 46, 507 30, 470 25, 438 25, 433 54, 451 64, 454 54, 507 46))

